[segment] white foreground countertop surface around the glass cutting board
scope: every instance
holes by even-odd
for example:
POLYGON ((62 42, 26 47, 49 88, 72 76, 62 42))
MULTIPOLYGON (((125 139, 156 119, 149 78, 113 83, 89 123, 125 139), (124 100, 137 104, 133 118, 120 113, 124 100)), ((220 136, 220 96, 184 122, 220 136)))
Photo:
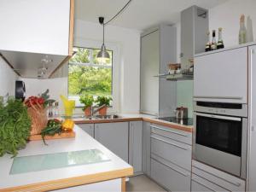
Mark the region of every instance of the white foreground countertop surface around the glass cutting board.
POLYGON ((98 143, 94 138, 82 131, 78 125, 75 125, 74 131, 76 132, 75 138, 47 140, 48 145, 44 145, 43 141, 27 143, 26 148, 20 150, 17 156, 53 154, 97 148, 101 150, 103 154, 107 155, 110 161, 84 166, 70 166, 40 172, 9 175, 13 159, 11 159, 11 155, 5 154, 3 157, 0 157, 0 190, 26 184, 42 183, 69 177, 79 177, 131 168, 124 160, 121 160, 117 155, 108 150, 108 148, 105 148, 101 143, 98 143))

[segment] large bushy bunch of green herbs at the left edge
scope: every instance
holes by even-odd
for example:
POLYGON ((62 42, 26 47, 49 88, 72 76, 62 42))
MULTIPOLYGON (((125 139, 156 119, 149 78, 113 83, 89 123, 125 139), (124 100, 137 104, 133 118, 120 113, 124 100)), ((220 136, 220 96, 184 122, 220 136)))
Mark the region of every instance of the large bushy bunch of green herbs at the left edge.
POLYGON ((6 106, 0 102, 0 156, 17 155, 25 148, 30 130, 31 119, 21 100, 9 99, 6 106))

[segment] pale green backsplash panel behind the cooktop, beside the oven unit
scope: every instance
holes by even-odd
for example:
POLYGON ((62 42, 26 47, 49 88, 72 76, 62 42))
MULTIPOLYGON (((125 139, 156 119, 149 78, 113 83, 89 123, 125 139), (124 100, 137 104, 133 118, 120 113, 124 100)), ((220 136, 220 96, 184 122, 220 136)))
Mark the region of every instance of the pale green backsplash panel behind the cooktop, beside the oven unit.
POLYGON ((177 81, 177 107, 189 108, 189 118, 193 118, 193 80, 177 81))

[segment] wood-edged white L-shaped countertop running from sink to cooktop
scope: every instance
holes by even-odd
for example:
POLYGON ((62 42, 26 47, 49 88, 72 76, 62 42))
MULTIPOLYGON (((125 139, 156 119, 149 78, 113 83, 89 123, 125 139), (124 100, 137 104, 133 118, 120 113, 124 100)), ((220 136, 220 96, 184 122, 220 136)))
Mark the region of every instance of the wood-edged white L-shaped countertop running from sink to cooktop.
POLYGON ((74 119, 76 124, 97 124, 97 123, 113 123, 113 122, 127 122, 127 121, 147 121, 150 123, 154 123, 157 125, 164 125, 166 127, 170 127, 172 129, 182 130, 182 131, 193 131, 193 126, 189 125, 179 125, 176 123, 168 122, 161 119, 155 119, 156 117, 153 115, 148 114, 142 114, 142 113, 131 113, 131 114, 125 114, 121 113, 119 114, 121 118, 119 119, 74 119))

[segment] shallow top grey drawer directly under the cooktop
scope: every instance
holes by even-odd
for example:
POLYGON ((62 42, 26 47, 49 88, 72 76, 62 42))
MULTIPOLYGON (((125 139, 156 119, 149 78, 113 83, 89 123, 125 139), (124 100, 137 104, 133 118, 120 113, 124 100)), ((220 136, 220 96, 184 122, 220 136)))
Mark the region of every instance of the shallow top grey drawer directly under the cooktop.
POLYGON ((150 125, 151 132, 158 134, 163 137, 168 137, 178 142, 187 143, 192 145, 192 133, 187 131, 180 131, 172 129, 163 125, 150 125))

